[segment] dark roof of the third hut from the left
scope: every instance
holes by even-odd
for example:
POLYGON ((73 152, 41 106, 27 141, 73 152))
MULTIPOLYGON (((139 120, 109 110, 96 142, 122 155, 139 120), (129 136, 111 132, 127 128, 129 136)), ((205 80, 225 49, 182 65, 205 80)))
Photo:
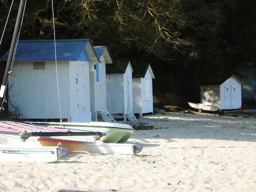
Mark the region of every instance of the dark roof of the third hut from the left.
POLYGON ((128 59, 114 60, 111 65, 106 65, 106 74, 124 74, 129 63, 128 59))

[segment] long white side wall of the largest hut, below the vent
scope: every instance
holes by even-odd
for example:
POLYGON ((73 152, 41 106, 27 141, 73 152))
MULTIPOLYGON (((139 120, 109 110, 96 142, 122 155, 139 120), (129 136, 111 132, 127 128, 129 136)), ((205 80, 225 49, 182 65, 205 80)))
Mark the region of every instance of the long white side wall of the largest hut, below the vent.
MULTIPOLYGON (((67 117, 68 73, 67 62, 58 65, 62 115, 67 117)), ((45 70, 33 70, 32 62, 16 62, 9 78, 9 99, 22 109, 22 118, 60 118, 56 67, 45 62, 45 70)), ((13 110, 9 105, 10 110, 13 110)))

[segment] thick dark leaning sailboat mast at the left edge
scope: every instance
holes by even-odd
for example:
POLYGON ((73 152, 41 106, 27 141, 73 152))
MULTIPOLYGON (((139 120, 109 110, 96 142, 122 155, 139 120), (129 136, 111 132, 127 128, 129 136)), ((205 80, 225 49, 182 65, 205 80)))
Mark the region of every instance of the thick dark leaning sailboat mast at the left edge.
POLYGON ((20 0, 20 6, 18 9, 18 14, 17 14, 17 19, 15 22, 15 27, 14 27, 14 31, 13 31, 13 36, 12 36, 12 40, 11 40, 11 47, 10 47, 10 51, 9 51, 9 55, 8 55, 8 59, 7 59, 7 64, 5 67, 5 71, 4 71, 4 78, 2 81, 2 85, 1 85, 1 89, 0 89, 0 104, 1 104, 1 110, 2 108, 2 104, 4 101, 4 93, 5 93, 5 89, 7 86, 7 80, 8 80, 8 73, 11 67, 11 62, 12 62, 12 58, 13 58, 13 53, 14 53, 14 48, 16 45, 16 41, 17 41, 17 36, 18 36, 18 32, 20 29, 20 25, 21 25, 21 20, 22 20, 22 14, 24 11, 24 7, 25 7, 25 0, 20 0))

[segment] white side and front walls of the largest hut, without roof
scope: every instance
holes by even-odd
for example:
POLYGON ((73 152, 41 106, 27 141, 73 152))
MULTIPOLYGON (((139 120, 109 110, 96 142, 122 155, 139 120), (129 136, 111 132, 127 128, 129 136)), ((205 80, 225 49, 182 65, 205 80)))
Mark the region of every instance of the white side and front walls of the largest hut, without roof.
MULTIPOLYGON (((45 62, 44 70, 33 70, 33 62, 15 63, 9 100, 21 109, 20 118, 90 121, 88 62, 57 62, 57 69, 61 112, 55 62, 45 62)), ((9 110, 14 109, 9 105, 9 110)))

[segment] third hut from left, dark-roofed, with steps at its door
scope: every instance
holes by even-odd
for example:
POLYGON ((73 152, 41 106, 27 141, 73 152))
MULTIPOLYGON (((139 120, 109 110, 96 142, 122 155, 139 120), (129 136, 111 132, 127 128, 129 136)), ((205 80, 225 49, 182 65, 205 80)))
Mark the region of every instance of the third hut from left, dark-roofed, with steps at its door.
POLYGON ((132 65, 129 60, 114 60, 106 65, 107 109, 123 114, 124 121, 136 121, 132 112, 132 65))

